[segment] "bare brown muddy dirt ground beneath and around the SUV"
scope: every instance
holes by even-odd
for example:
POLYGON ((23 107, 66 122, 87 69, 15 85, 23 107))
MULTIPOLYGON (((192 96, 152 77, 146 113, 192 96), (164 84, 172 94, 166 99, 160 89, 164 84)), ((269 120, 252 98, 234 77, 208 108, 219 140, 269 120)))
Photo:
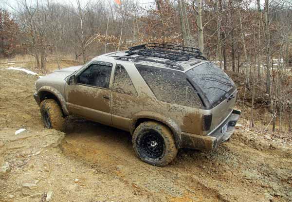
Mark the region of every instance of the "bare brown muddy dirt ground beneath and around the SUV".
POLYGON ((44 129, 36 79, 0 71, 0 149, 10 166, 0 177, 0 202, 47 195, 52 202, 292 201, 291 136, 242 127, 217 151, 183 149, 155 167, 135 156, 128 132, 75 117, 67 118, 66 134, 44 129))

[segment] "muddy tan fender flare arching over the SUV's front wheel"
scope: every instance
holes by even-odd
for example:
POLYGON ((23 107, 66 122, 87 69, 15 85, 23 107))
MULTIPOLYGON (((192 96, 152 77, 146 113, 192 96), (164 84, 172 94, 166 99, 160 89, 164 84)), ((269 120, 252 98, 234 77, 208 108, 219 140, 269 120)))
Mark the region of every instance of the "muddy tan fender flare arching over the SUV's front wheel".
POLYGON ((66 106, 66 101, 62 94, 58 92, 56 89, 50 86, 43 86, 38 90, 37 95, 39 96, 40 102, 45 99, 54 99, 61 107, 63 115, 65 116, 69 115, 69 111, 66 106))

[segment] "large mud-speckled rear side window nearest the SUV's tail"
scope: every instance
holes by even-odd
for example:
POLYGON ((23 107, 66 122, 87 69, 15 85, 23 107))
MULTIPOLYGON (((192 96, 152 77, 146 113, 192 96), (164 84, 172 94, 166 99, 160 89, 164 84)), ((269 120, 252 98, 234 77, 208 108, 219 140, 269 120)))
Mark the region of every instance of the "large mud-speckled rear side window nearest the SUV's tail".
POLYGON ((184 73, 144 66, 137 66, 137 69, 158 100, 187 107, 202 107, 197 92, 184 73))

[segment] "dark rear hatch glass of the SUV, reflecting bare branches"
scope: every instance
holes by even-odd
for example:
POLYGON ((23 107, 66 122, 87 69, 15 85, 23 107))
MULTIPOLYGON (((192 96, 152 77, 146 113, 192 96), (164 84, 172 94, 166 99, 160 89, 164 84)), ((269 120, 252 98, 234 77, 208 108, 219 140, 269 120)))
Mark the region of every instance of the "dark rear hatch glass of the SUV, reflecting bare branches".
POLYGON ((232 79, 211 62, 203 63, 186 72, 186 74, 206 94, 211 105, 218 104, 221 98, 235 90, 232 79))

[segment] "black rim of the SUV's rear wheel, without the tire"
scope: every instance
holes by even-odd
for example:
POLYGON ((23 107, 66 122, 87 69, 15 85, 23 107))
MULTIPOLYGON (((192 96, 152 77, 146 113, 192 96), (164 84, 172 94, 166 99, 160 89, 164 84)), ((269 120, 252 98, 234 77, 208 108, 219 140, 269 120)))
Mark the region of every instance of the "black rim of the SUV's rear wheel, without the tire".
POLYGON ((151 131, 143 135, 140 141, 143 153, 150 158, 156 159, 164 152, 164 139, 156 131, 151 131))

